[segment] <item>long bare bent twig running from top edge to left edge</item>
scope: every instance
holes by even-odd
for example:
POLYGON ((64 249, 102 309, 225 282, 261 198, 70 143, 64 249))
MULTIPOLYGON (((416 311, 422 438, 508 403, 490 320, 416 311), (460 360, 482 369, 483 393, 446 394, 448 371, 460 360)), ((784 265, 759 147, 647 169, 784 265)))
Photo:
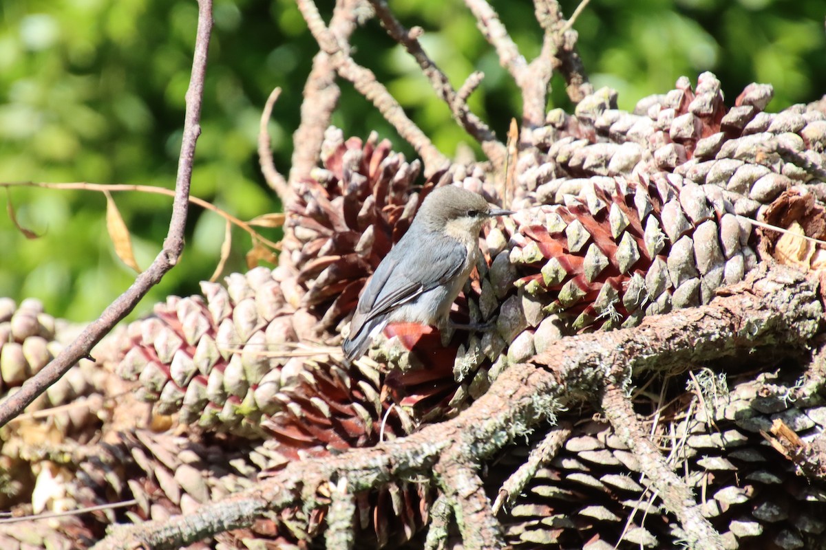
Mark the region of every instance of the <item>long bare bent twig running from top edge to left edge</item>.
POLYGON ((129 289, 121 294, 107 307, 96 321, 89 323, 83 332, 66 346, 60 354, 47 364, 39 373, 26 380, 21 388, 11 397, 0 403, 0 425, 5 425, 21 413, 40 393, 55 383, 72 365, 88 357, 93 346, 101 341, 116 322, 128 315, 135 304, 140 302, 149 289, 171 270, 183 251, 183 232, 186 228, 189 205, 189 184, 192 181, 192 159, 195 145, 201 134, 201 103, 203 97, 204 75, 207 70, 207 49, 212 30, 212 2, 198 0, 198 25, 195 51, 192 56, 192 76, 189 81, 186 102, 187 109, 183 121, 183 142, 178 157, 178 176, 175 180, 175 200, 172 206, 172 218, 169 233, 164 239, 163 250, 154 259, 147 270, 138 275, 129 289))

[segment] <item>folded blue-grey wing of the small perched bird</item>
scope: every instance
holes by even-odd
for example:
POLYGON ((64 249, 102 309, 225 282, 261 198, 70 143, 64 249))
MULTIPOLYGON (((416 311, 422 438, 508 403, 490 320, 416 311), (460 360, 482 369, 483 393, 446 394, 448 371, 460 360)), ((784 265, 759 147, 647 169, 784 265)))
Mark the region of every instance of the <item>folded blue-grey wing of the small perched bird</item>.
POLYGON ((350 333, 355 334, 370 319, 389 313, 439 284, 452 280, 463 269, 467 254, 463 244, 453 239, 449 239, 449 244, 441 243, 438 250, 431 249, 430 253, 410 251, 407 247, 393 248, 379 264, 358 300, 350 333), (404 270, 399 269, 402 260, 404 270))

